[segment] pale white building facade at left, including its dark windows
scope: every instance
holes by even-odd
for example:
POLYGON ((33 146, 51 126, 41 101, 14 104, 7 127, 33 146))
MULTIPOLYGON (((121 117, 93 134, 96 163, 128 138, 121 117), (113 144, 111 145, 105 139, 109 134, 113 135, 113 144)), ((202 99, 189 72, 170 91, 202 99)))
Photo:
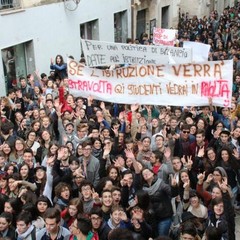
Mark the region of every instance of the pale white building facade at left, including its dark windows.
POLYGON ((0 0, 0 96, 21 76, 49 74, 50 60, 81 56, 80 37, 125 42, 129 0, 0 0))

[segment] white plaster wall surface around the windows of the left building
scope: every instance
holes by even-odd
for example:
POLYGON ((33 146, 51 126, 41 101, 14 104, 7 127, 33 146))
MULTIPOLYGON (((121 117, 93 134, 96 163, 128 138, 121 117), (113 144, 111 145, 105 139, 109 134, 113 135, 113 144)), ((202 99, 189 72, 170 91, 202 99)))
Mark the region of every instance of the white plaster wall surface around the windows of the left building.
MULTIPOLYGON (((114 13, 128 11, 128 35, 131 35, 129 0, 81 0, 76 11, 67 11, 64 3, 27 8, 23 12, 0 15, 0 49, 33 40, 35 64, 49 73, 50 58, 61 54, 80 58, 80 24, 99 19, 99 40, 114 41, 114 13)), ((0 84, 4 84, 0 64, 0 84)), ((0 96, 5 95, 0 88, 0 96)))

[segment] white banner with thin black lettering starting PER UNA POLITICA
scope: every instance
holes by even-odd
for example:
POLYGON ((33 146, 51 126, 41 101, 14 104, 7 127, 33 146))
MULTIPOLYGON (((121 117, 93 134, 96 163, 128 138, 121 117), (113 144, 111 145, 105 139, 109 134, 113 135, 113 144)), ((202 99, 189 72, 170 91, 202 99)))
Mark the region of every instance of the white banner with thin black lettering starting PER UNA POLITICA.
POLYGON ((81 40, 89 67, 112 64, 176 64, 192 61, 191 49, 81 40))

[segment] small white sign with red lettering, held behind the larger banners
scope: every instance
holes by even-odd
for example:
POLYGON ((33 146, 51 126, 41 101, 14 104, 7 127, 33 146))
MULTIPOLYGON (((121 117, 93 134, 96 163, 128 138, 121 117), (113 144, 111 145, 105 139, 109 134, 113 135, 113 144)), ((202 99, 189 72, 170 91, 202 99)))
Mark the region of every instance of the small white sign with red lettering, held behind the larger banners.
POLYGON ((177 30, 154 28, 153 43, 156 45, 174 46, 177 30))

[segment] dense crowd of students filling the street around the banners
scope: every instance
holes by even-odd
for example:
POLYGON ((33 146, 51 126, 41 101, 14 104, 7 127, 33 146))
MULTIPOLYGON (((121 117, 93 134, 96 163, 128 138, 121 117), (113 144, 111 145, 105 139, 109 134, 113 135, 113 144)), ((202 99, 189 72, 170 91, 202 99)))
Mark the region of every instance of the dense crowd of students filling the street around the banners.
POLYGON ((61 55, 51 60, 50 76, 29 74, 8 89, 1 98, 0 239, 234 240, 239 6, 203 19, 181 14, 177 43, 208 43, 209 60, 234 60, 231 108, 211 98, 204 107, 172 107, 74 97, 61 55))

